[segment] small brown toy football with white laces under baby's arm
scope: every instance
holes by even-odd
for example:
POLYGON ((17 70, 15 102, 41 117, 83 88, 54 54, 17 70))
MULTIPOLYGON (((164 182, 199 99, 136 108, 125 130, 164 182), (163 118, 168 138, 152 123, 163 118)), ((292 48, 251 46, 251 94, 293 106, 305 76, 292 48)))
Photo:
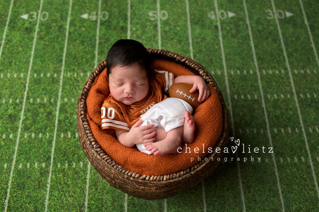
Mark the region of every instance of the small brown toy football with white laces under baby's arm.
POLYGON ((168 92, 170 97, 184 100, 185 102, 189 103, 190 106, 192 106, 193 110, 195 110, 201 104, 201 102, 198 101, 198 90, 193 93, 189 92, 192 88, 193 86, 191 84, 179 82, 171 85, 168 92))

